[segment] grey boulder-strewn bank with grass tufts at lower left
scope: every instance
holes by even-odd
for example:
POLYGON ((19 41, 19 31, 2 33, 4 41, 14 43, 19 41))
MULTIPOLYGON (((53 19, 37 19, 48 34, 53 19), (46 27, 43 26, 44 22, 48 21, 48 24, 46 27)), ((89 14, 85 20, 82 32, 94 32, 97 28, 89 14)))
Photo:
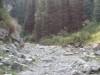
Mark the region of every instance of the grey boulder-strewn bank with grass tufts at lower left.
POLYGON ((35 58, 18 51, 13 44, 0 41, 0 75, 19 75, 18 72, 30 70, 35 58))

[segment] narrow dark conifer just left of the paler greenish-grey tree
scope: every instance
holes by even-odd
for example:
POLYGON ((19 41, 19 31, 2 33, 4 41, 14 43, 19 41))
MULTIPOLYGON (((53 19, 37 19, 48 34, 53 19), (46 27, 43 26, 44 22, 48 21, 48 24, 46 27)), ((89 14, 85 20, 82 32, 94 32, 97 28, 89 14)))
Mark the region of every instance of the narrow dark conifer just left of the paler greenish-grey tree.
POLYGON ((31 34, 35 24, 35 0, 26 0, 25 4, 24 31, 26 34, 31 34))

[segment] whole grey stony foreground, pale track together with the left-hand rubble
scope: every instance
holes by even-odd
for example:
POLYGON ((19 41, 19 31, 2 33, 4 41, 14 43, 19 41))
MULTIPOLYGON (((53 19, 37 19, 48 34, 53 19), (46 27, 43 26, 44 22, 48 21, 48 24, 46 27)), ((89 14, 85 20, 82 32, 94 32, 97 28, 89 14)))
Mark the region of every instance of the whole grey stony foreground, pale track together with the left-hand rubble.
POLYGON ((13 44, 0 45, 0 48, 8 52, 3 56, 1 51, 0 66, 18 71, 12 74, 5 69, 3 75, 100 75, 100 57, 91 46, 62 48, 26 43, 20 51, 13 44))

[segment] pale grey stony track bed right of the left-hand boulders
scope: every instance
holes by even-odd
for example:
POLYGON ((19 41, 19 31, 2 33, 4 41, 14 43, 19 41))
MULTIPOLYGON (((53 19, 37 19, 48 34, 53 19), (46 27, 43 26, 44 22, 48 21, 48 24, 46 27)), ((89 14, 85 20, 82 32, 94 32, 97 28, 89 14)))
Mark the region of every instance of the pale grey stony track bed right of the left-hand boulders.
POLYGON ((26 44, 22 52, 34 56, 36 61, 31 66, 32 72, 20 75, 100 75, 99 57, 91 46, 62 48, 26 44))

